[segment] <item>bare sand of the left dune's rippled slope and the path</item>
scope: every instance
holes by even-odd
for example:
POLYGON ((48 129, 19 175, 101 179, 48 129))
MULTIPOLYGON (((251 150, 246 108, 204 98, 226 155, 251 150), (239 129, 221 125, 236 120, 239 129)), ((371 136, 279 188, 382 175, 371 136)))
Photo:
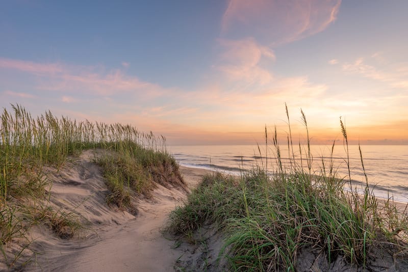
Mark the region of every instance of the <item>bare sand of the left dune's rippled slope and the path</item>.
MULTIPOLYGON (((183 255, 174 241, 163 237, 169 212, 186 198, 184 192, 158 185, 152 199, 137 200, 132 215, 105 204, 107 189, 99 167, 90 162, 93 151, 68 164, 54 177, 50 201, 75 208, 89 223, 81 236, 62 240, 44 228, 33 231, 37 260, 28 270, 58 271, 171 271, 183 255)), ((205 170, 182 168, 185 181, 194 186, 205 170)))

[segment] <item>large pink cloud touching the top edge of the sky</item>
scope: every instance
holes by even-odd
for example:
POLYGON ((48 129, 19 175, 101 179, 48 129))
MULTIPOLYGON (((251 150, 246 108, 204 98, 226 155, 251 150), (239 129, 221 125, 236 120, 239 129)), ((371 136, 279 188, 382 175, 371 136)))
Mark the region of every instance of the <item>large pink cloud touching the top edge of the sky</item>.
POLYGON ((341 0, 231 0, 221 23, 223 37, 254 37, 282 44, 319 33, 336 20, 341 0))

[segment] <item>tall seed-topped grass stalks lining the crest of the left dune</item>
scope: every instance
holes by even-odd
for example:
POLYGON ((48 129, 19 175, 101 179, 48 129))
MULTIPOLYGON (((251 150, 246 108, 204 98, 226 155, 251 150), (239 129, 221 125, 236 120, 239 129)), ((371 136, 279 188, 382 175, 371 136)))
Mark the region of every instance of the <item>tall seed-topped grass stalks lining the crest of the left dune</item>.
POLYGON ((49 111, 35 119, 20 105, 12 104, 11 108, 13 114, 3 110, 0 123, 1 202, 13 193, 12 188, 29 185, 23 182, 23 175, 44 165, 60 168, 68 155, 84 149, 126 150, 136 144, 141 149, 167 154, 164 137, 140 132, 131 125, 78 122, 64 116, 57 118, 49 111))

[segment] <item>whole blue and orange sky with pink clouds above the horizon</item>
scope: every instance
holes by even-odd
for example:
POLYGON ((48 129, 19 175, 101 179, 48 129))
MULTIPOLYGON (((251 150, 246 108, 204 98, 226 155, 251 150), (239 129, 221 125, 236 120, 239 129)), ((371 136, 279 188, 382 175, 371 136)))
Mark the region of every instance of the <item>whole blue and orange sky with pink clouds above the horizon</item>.
POLYGON ((408 1, 0 2, 0 107, 168 144, 408 144, 408 1), (271 137, 271 136, 269 136, 271 137))

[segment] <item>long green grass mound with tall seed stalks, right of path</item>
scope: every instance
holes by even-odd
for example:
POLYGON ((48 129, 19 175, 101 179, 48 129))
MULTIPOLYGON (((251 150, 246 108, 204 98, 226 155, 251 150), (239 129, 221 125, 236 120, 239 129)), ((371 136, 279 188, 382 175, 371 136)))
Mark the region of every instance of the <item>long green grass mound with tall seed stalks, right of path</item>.
MULTIPOLYGON (((288 112, 287 117, 290 125, 288 112)), ((295 150, 288 134, 290 164, 283 164, 275 128, 270 152, 274 162, 262 161, 238 178, 220 173, 204 177, 186 203, 172 211, 167 231, 190 237, 204 224, 216 224, 225 234, 224 254, 233 271, 295 271, 304 250, 321 254, 328 264, 343 258, 363 268, 381 246, 392 248, 394 257, 406 255, 406 208, 398 210, 391 198, 379 204, 366 175, 364 194, 358 194, 350 175, 337 175, 332 158, 320 162, 320 172, 313 172, 303 112, 301 118, 307 145, 295 150), (263 167, 268 164, 269 169, 263 167), (346 184, 351 186, 348 192, 346 184)), ((347 151, 343 122, 341 128, 347 151)), ((333 149, 334 143, 332 154, 333 149)))

